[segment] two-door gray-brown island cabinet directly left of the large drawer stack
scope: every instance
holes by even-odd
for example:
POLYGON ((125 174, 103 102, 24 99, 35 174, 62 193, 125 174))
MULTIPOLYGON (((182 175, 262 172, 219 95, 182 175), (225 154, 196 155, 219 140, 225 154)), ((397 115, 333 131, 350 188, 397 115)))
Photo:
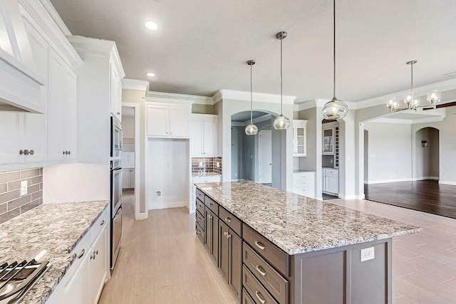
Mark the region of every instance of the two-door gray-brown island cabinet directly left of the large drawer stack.
POLYGON ((242 239, 219 220, 219 267, 237 298, 242 295, 242 239))

